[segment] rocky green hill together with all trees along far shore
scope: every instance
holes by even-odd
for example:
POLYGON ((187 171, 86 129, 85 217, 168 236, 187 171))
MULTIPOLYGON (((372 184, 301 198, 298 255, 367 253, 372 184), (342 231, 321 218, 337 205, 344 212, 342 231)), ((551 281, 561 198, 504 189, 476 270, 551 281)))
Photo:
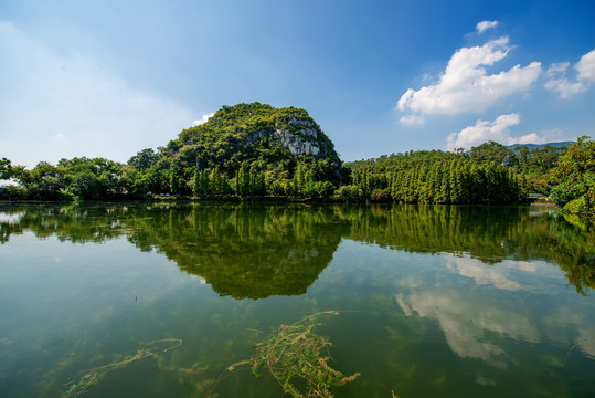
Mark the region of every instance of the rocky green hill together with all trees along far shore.
POLYGON ((545 196, 567 212, 593 217, 595 147, 417 150, 342 164, 320 126, 300 108, 223 106, 166 146, 127 164, 105 158, 0 160, 0 190, 11 200, 322 200, 341 202, 509 205, 545 196))

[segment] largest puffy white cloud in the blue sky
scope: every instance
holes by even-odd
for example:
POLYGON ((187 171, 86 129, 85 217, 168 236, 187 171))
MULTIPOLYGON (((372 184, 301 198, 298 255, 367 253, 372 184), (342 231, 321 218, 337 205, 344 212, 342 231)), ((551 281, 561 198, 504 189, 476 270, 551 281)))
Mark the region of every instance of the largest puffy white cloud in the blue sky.
POLYGON ((488 74, 484 67, 502 61, 510 50, 507 36, 459 49, 436 84, 407 90, 399 100, 397 109, 449 115, 482 112, 503 97, 527 91, 539 77, 541 63, 516 65, 495 74, 488 74))

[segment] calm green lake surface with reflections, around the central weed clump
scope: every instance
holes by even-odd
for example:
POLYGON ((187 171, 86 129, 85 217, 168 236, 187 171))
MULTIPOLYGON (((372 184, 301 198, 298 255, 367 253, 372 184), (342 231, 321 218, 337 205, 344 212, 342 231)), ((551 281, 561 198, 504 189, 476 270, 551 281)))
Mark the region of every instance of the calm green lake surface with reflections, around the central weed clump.
POLYGON ((284 397, 225 369, 332 310, 336 397, 594 397, 594 287, 550 209, 0 205, 0 396, 284 397))

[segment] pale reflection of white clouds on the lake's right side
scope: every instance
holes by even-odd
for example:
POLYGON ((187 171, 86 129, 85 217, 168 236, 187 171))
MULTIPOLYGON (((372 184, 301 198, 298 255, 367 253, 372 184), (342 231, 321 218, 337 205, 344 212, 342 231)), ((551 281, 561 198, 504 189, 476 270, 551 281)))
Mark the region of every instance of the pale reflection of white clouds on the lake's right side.
POLYGON ((564 280, 556 266, 511 260, 489 265, 447 253, 443 258, 449 277, 435 283, 425 283, 423 275, 407 280, 395 300, 406 315, 438 321, 446 342, 460 357, 507 367, 507 349, 490 333, 530 343, 556 342, 569 348, 576 344, 595 357, 595 325, 588 316, 594 314, 593 301, 576 302, 576 293, 559 287, 564 280))

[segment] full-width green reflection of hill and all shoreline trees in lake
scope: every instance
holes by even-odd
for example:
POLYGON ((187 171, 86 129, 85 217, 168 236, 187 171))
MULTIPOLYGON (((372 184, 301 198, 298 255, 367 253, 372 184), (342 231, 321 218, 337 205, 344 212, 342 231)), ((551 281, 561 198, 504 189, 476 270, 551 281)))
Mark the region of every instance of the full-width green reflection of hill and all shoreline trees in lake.
POLYGON ((595 287, 594 231, 522 208, 110 205, 9 207, 4 213, 0 243, 26 230, 72 242, 126 235, 236 298, 305 293, 343 238, 418 253, 468 253, 487 264, 555 261, 577 290, 595 287))

